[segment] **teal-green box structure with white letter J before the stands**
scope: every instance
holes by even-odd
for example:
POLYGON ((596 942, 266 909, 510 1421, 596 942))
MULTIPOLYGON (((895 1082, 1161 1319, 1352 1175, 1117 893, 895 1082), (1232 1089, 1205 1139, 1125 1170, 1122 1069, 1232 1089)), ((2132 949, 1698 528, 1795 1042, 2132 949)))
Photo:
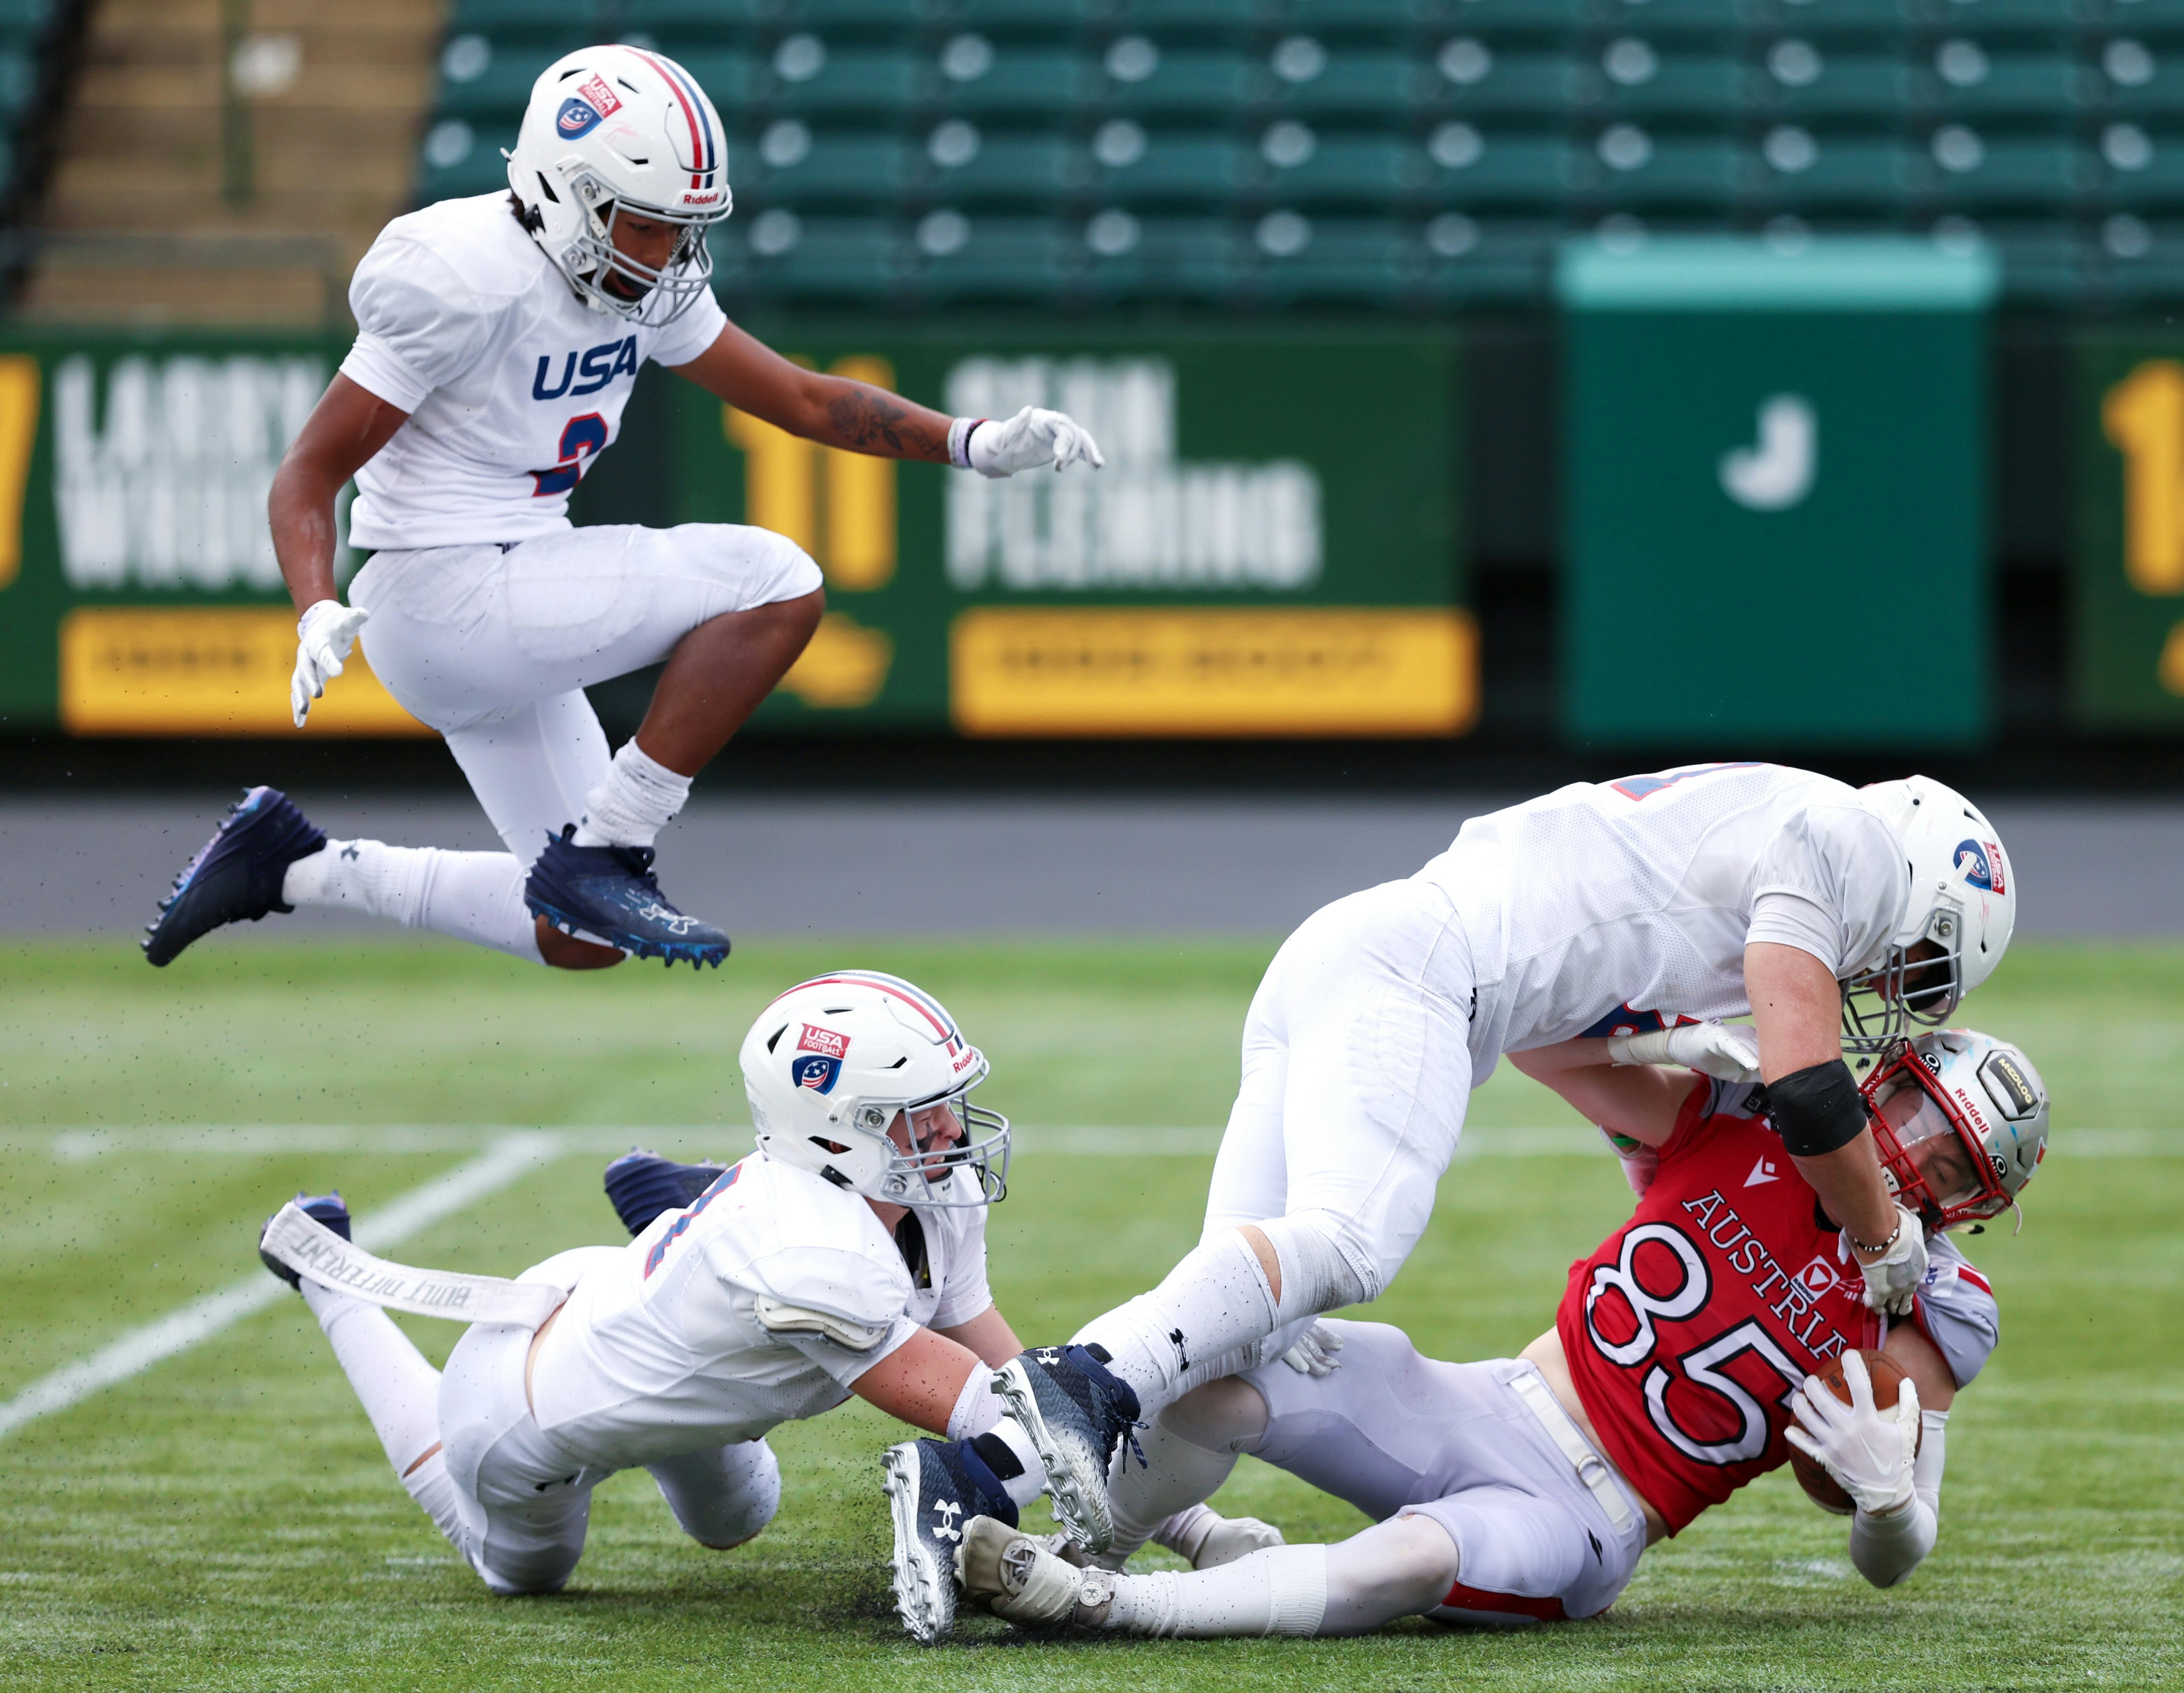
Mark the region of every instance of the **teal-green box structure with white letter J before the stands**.
POLYGON ((1562 253, 1575 743, 1985 738, 1996 280, 1924 240, 1562 253))

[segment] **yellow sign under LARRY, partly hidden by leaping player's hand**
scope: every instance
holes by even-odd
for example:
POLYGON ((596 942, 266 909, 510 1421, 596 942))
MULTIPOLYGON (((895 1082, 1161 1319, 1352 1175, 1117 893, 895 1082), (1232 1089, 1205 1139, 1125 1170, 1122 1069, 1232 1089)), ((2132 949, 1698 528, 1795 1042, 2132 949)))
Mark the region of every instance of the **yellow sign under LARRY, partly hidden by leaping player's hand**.
MULTIPOLYGON (((79 607, 61 620, 70 734, 297 734, 288 717, 295 616, 284 605, 79 607)), ((358 647, 304 734, 432 734, 358 647)))

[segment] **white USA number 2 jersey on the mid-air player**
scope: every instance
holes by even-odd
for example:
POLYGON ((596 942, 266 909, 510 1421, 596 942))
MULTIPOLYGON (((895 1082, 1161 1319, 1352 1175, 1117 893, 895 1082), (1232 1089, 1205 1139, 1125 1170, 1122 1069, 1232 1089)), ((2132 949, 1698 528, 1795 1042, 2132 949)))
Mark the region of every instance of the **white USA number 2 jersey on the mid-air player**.
POLYGON ((349 280, 341 371, 408 413, 356 472, 369 548, 522 542, 568 529, 568 496, 622 426, 638 365, 686 365, 727 319, 705 295, 660 330, 594 312, 505 192, 389 223, 349 280))

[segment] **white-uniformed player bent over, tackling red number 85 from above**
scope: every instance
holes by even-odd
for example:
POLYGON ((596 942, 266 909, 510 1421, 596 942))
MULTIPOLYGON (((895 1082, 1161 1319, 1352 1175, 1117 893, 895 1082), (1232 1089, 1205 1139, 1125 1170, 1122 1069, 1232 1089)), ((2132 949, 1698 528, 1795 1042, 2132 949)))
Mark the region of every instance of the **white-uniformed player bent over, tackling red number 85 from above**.
POLYGON ((1577 782, 1321 909, 1251 1001, 1199 1247, 996 1381, 1070 1540, 1109 1544, 1129 1424, 1380 1295, 1505 1053, 1548 1086, 1660 1059, 1765 1081, 1867 1302, 1907 1311, 1926 1239, 1889 1195, 1843 1049, 1946 1022, 2014 917, 2016 878, 1963 795, 1780 765, 1577 782), (1745 1011, 1752 1027, 1712 1020, 1745 1011))

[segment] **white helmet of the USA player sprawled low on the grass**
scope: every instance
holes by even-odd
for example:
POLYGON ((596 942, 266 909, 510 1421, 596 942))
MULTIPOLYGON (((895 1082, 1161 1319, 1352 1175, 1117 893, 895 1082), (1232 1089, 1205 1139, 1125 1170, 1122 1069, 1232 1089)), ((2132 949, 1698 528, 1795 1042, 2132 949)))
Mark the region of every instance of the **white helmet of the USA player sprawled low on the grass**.
POLYGON ((738 1062, 769 1158, 895 1206, 992 1206, 1009 1193, 1009 1118, 965 1099, 985 1081, 985 1055, 900 976, 836 970, 791 987, 751 1025, 738 1062), (957 1145, 917 1140, 928 1105, 954 1112, 957 1145), (898 1116, 913 1151, 887 1134, 898 1116))

